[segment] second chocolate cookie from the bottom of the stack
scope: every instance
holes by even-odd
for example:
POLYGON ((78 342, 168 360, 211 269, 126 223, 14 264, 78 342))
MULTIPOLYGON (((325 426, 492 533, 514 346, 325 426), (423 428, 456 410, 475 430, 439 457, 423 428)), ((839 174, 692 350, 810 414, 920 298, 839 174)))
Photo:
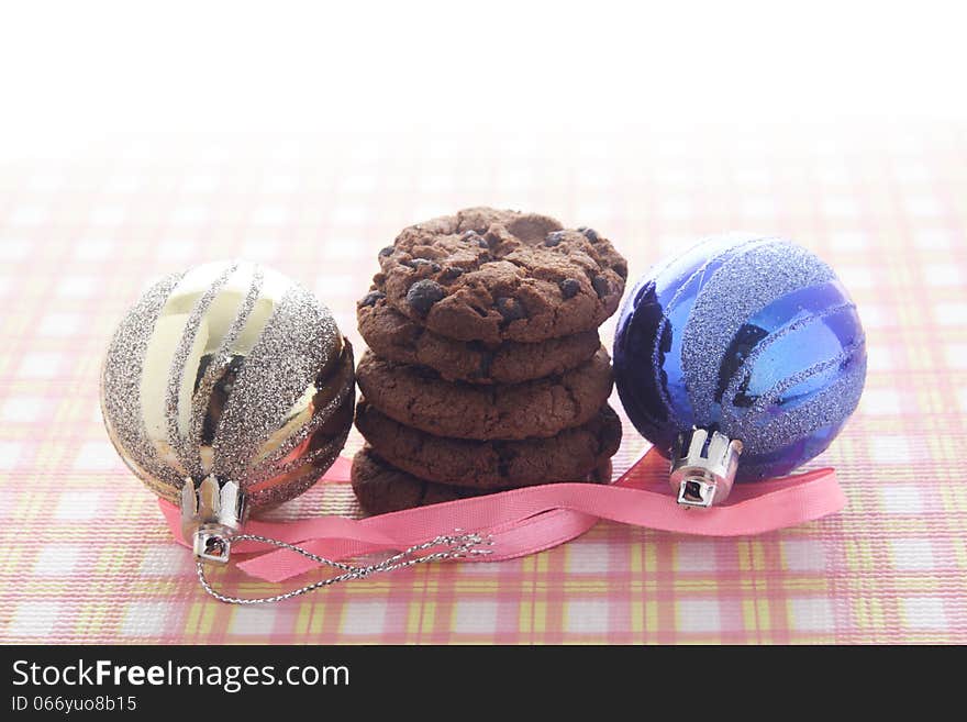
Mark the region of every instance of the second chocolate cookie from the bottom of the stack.
POLYGON ((552 438, 477 442, 433 436, 410 429, 360 400, 356 426, 382 458, 421 479, 492 490, 576 481, 611 458, 621 443, 621 421, 610 407, 588 423, 552 438))

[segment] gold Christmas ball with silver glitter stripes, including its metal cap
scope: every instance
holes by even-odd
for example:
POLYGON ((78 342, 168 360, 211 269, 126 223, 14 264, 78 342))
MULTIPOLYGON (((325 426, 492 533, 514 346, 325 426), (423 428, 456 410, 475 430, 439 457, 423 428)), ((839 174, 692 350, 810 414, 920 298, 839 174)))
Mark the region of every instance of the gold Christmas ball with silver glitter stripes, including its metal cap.
POLYGON ((248 509, 302 493, 332 465, 354 403, 353 349, 329 309, 245 262, 148 288, 114 332, 101 376, 121 458, 181 506, 185 538, 218 562, 248 509))

